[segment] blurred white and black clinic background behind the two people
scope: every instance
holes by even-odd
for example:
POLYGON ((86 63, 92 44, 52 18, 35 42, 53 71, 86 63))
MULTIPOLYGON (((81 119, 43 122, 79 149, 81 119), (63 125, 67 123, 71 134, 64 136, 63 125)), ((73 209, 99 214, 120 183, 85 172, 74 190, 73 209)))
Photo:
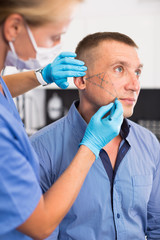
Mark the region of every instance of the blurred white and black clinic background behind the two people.
MULTIPOLYGON (((144 65, 132 120, 149 128, 160 139, 159 23, 160 0, 85 0, 62 38, 62 50, 74 52, 77 43, 94 32, 121 32, 130 36, 139 46, 144 65)), ((3 74, 16 71, 7 67, 3 74)), ((55 84, 41 86, 14 99, 28 135, 67 113, 78 98, 72 79, 69 84, 67 90, 55 84)))

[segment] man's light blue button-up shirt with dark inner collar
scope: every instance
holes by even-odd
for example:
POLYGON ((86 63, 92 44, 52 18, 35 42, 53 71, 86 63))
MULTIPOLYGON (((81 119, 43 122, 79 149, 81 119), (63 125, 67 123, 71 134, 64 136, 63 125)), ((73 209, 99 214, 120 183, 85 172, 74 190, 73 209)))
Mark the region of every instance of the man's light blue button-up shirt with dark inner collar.
MULTIPOLYGON (((78 103, 76 103, 78 104, 78 103)), ((40 159, 46 192, 69 166, 87 127, 73 103, 67 116, 36 133, 32 145, 40 159)), ((160 147, 156 137, 124 120, 113 171, 108 154, 91 167, 80 193, 48 239, 160 239, 160 147)))

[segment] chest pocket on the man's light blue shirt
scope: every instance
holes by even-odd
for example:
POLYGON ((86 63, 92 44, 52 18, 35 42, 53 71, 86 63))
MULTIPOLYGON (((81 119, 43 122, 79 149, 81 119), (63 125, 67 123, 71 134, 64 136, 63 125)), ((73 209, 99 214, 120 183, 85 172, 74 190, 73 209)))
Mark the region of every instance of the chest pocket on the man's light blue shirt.
POLYGON ((133 216, 144 216, 147 214, 147 204, 152 190, 152 175, 136 175, 132 177, 133 184, 133 201, 132 211, 133 216))

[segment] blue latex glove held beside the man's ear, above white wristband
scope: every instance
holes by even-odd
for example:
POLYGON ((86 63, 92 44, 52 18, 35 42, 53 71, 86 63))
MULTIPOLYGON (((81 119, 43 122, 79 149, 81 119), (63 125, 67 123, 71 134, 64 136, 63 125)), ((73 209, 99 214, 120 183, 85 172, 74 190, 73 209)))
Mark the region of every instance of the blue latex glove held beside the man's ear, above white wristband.
POLYGON ((76 57, 76 53, 62 52, 55 60, 44 67, 41 71, 46 83, 55 82, 60 88, 67 88, 69 83, 67 77, 83 77, 86 75, 87 67, 84 62, 76 57))

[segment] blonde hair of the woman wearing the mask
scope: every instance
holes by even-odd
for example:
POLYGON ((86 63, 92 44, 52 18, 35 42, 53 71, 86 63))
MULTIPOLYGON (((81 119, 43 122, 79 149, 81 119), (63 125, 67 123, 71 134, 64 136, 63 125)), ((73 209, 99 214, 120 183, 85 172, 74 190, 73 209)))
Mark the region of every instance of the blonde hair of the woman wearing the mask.
POLYGON ((83 0, 0 0, 0 25, 10 14, 20 14, 32 26, 64 20, 68 10, 83 0))

